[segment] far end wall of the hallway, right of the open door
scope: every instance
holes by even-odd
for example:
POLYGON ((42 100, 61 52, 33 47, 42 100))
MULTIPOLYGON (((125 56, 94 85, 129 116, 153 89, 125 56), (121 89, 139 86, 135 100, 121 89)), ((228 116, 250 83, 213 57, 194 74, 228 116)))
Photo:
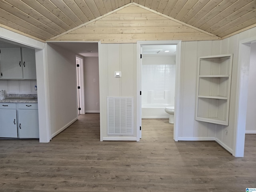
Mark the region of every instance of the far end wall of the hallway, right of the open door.
POLYGON ((85 112, 99 113, 100 86, 98 57, 84 57, 84 97, 85 112))

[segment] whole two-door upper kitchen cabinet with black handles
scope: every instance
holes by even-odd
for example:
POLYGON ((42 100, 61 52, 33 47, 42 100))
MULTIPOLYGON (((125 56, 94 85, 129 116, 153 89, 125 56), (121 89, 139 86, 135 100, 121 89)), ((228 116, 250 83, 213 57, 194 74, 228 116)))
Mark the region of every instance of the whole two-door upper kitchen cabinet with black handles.
POLYGON ((0 48, 2 79, 36 79, 35 50, 30 48, 0 48))

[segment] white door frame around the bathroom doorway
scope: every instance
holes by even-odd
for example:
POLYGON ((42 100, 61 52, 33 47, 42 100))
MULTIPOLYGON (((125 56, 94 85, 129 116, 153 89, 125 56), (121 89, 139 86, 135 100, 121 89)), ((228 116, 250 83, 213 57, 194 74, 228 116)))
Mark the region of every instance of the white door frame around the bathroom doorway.
POLYGON ((173 139, 178 141, 179 125, 180 125, 180 63, 181 63, 181 40, 168 40, 168 41, 138 41, 137 42, 137 104, 136 104, 136 130, 137 141, 141 136, 141 73, 142 73, 142 60, 140 54, 142 54, 142 45, 176 45, 176 74, 175 74, 175 101, 174 101, 174 134, 173 139))

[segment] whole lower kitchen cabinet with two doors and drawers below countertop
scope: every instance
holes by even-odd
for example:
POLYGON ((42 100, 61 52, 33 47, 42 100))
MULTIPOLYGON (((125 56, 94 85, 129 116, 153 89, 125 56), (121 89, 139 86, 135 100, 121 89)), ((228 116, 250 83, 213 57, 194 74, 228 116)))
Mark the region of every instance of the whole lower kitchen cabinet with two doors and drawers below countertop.
POLYGON ((37 103, 0 103, 0 138, 39 138, 37 103))

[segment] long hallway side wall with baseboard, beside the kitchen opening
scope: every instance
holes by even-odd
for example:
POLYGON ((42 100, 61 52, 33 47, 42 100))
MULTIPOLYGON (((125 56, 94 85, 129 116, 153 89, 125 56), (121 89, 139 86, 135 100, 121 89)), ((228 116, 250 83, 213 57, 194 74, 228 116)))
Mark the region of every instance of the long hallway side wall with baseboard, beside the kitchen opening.
POLYGON ((49 118, 53 137, 78 118, 76 55, 50 43, 46 50, 49 118))

